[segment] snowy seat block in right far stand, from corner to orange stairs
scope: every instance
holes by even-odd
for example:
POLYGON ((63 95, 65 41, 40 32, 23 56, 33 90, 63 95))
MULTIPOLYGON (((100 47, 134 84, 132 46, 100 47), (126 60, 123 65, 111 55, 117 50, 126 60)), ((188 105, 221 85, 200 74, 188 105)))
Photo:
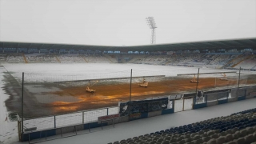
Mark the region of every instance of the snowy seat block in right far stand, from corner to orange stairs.
POLYGON ((129 63, 168 65, 168 66, 206 66, 221 68, 230 60, 237 58, 232 54, 172 54, 172 55, 135 55, 129 63))

